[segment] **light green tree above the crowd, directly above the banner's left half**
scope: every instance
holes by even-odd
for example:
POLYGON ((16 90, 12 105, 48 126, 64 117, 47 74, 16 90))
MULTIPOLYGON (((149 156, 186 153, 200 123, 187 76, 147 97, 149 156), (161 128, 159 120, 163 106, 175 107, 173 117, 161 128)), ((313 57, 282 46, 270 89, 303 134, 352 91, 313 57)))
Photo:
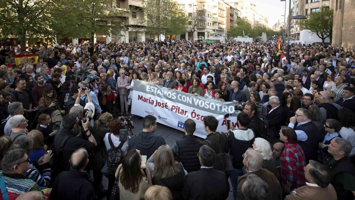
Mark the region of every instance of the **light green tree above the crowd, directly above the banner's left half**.
POLYGON ((180 4, 171 0, 150 0, 143 4, 145 32, 158 36, 186 30, 187 17, 180 4))

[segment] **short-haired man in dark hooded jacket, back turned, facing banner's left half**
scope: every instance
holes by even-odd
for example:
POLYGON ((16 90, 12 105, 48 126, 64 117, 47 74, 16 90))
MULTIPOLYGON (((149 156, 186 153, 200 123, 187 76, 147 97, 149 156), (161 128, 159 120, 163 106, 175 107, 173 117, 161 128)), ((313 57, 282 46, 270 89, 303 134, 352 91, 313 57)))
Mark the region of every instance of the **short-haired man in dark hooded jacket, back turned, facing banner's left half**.
POLYGON ((157 118, 153 115, 147 115, 143 118, 143 130, 133 135, 128 143, 128 149, 137 149, 141 155, 151 157, 158 147, 166 144, 162 136, 157 135, 157 118))

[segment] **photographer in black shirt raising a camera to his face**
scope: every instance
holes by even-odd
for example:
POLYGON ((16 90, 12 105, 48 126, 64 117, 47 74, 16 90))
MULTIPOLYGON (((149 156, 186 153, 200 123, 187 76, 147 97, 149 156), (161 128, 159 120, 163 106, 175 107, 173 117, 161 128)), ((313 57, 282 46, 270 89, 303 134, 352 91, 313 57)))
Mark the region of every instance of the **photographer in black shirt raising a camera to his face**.
POLYGON ((64 117, 62 121, 63 127, 59 129, 54 138, 55 151, 58 155, 58 160, 56 162, 56 166, 58 167, 57 172, 70 170, 69 159, 75 150, 84 147, 88 152, 90 152, 96 147, 96 140, 88 129, 89 123, 89 120, 85 123, 83 120, 80 121, 75 113, 71 113, 64 117), (88 138, 88 140, 77 137, 75 130, 79 126, 79 123, 82 124, 83 134, 88 138), (61 152, 59 151, 59 148, 62 149, 61 152))

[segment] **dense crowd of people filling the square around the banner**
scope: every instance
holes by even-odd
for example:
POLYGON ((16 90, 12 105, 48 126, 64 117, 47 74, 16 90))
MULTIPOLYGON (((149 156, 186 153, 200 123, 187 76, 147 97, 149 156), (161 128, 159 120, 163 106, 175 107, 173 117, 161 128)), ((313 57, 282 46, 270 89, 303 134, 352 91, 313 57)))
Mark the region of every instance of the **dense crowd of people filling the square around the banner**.
POLYGON ((354 199, 354 50, 292 44, 287 59, 276 46, 275 38, 6 44, 0 199, 205 200, 230 190, 241 200, 354 199), (244 109, 225 132, 205 116, 202 142, 187 119, 170 147, 154 116, 143 130, 125 123, 136 81, 244 109))

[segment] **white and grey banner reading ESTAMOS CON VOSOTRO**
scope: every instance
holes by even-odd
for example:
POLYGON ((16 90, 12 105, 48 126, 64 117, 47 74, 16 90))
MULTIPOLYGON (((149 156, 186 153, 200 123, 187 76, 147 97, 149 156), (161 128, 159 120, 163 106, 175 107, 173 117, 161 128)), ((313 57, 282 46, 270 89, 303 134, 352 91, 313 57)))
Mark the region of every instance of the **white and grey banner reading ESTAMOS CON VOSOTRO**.
POLYGON ((228 118, 236 127, 236 116, 239 111, 234 110, 233 102, 220 102, 205 99, 202 96, 182 93, 178 90, 168 90, 144 81, 136 81, 133 87, 132 115, 153 115, 158 123, 184 131, 187 119, 196 122, 194 135, 206 138, 207 132, 203 128, 203 117, 213 115, 218 120, 217 131, 225 132, 227 121, 224 114, 232 114, 228 118))

